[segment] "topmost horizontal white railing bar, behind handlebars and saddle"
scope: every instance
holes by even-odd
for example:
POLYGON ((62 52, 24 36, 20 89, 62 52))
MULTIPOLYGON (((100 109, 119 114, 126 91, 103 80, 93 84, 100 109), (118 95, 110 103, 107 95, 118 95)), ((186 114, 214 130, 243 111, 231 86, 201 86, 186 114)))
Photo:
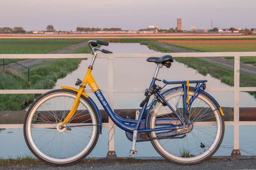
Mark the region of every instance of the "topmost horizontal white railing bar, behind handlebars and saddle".
MULTIPOLYGON (((140 57, 161 57, 163 55, 172 55, 172 57, 234 57, 235 55, 246 57, 256 56, 256 52, 195 52, 195 53, 99 53, 99 58, 140 58, 140 57)), ((90 53, 74 54, 0 54, 0 59, 72 59, 72 58, 90 58, 90 53)))

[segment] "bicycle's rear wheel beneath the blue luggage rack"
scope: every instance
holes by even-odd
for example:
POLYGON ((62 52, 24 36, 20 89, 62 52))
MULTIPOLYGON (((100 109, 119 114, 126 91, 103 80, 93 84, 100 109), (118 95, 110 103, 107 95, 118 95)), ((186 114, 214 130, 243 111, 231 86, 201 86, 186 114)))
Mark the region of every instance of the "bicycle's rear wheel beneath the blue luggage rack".
MULTIPOLYGON (((189 97, 194 94, 195 90, 189 89, 189 97)), ((170 90, 163 96, 179 116, 184 118, 182 95, 183 90, 180 88, 170 90)), ((188 122, 193 122, 189 127, 174 131, 152 131, 149 135, 157 138, 159 134, 172 134, 171 138, 151 140, 157 152, 176 164, 197 164, 211 157, 220 147, 225 129, 224 120, 218 105, 203 93, 193 101, 186 117, 188 122)), ((166 118, 174 126, 181 124, 168 106, 156 103, 150 111, 148 127, 163 127, 163 124, 157 124, 159 118, 166 118)))

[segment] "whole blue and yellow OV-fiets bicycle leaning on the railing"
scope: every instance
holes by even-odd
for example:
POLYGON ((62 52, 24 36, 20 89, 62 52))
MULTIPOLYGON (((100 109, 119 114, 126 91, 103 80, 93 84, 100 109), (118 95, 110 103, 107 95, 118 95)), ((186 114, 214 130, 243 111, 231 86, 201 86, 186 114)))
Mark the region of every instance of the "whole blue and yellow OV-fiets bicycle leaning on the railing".
POLYGON ((98 45, 108 46, 108 43, 88 41, 93 58, 84 80, 76 81, 79 89, 52 90, 42 94, 29 107, 24 138, 38 159, 65 166, 92 152, 102 132, 102 119, 99 108, 84 93, 87 83, 111 120, 132 141, 131 154, 137 154, 136 142, 151 141, 165 159, 176 164, 197 164, 218 150, 224 135, 224 114, 217 101, 205 92, 207 80, 163 80, 164 87, 179 85, 164 90, 156 85, 161 81, 157 74, 163 66, 170 68, 173 58, 171 55, 149 57, 147 61, 155 62, 157 67, 140 104, 140 115, 136 120, 122 118, 110 108, 91 74, 96 52, 112 53, 98 45), (153 97, 149 104, 150 96, 153 97))

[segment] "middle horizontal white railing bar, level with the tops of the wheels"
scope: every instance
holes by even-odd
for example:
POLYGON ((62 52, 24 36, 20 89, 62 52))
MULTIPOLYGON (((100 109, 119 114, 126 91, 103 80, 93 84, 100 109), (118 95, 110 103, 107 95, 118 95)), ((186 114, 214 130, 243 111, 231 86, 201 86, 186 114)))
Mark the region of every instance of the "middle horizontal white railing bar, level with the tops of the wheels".
MULTIPOLYGON (((54 90, 54 89, 0 90, 0 94, 44 94, 45 92, 49 92, 51 90, 54 90)), ((240 87, 239 91, 254 92, 256 91, 256 87, 240 87)), ((93 93, 92 90, 84 90, 84 92, 93 93)), ((108 90, 102 89, 102 92, 108 93, 108 90)), ((113 90, 113 92, 114 93, 143 93, 145 92, 145 89, 115 89, 113 90)), ((212 89, 207 89, 206 92, 234 92, 234 87, 212 88, 212 89)))

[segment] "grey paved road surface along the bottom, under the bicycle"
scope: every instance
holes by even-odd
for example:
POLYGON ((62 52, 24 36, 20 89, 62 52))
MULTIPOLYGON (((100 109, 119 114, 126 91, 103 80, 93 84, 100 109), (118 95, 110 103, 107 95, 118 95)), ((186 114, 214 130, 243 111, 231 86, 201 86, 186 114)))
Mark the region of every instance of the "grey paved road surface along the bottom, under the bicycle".
POLYGON ((44 166, 22 166, 10 167, 9 169, 256 169, 256 158, 247 157, 241 159, 219 158, 210 159, 193 166, 180 166, 167 162, 166 160, 149 160, 149 161, 124 161, 118 159, 111 160, 92 160, 87 163, 80 163, 74 166, 54 167, 44 166))

